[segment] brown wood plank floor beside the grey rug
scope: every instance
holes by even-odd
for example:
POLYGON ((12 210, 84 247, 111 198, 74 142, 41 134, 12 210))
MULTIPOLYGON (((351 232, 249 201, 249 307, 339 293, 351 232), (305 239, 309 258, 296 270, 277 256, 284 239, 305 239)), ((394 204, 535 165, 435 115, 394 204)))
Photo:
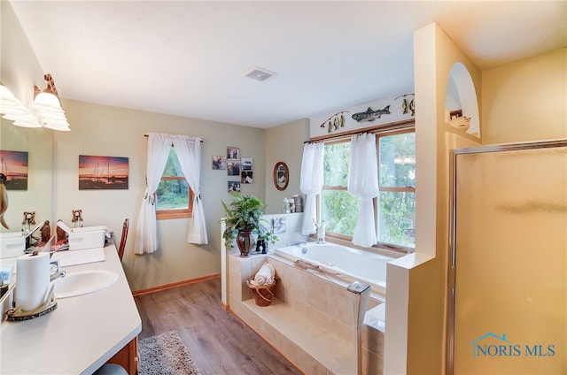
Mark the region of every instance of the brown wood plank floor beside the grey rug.
POLYGON ((233 313, 221 308, 221 279, 134 298, 139 338, 175 330, 203 375, 301 374, 233 313))

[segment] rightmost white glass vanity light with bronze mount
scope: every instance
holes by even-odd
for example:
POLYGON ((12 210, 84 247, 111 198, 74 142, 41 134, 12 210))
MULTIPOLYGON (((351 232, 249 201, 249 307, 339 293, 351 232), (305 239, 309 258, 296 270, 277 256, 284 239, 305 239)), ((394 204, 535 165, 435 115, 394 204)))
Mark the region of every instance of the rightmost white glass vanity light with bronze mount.
POLYGON ((55 82, 49 73, 45 74, 43 79, 47 82, 47 87, 40 90, 37 86, 34 86, 32 108, 37 111, 40 124, 53 130, 68 132, 71 128, 67 122, 65 111, 61 108, 55 82))

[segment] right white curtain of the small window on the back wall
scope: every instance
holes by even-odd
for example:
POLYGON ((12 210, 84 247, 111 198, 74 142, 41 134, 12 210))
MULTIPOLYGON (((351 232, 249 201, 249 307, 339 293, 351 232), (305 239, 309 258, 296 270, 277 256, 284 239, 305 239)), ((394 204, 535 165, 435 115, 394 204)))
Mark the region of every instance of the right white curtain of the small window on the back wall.
POLYGON ((199 190, 201 175, 201 139, 186 135, 174 136, 175 153, 185 180, 193 191, 193 218, 189 221, 189 243, 209 243, 206 236, 205 210, 199 190))

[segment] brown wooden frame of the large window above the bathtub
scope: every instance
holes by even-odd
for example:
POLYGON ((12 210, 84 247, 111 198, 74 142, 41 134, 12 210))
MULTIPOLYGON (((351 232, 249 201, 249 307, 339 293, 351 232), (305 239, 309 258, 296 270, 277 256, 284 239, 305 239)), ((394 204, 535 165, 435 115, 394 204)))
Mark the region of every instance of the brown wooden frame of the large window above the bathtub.
MULTIPOLYGON (((379 126, 371 126, 371 127, 366 127, 366 128, 362 128, 362 129, 357 129, 354 131, 350 131, 350 132, 346 132, 343 134, 337 134, 337 135, 323 135, 321 137, 315 137, 312 138, 310 140, 310 142, 323 142, 324 145, 328 145, 328 144, 333 144, 333 143, 342 143, 342 142, 350 142, 351 140, 351 136, 353 134, 363 134, 363 133, 372 133, 372 134, 376 134, 377 138, 376 138, 376 147, 377 147, 377 157, 379 157, 379 142, 380 142, 380 138, 384 137, 384 136, 392 136, 392 135, 398 135, 398 134, 408 134, 408 133, 416 133, 416 121, 415 119, 411 119, 411 120, 403 120, 403 121, 398 121, 398 122, 392 122, 392 123, 388 123, 388 124, 384 124, 384 125, 379 125, 379 126)), ((380 163, 378 160, 378 176, 380 173, 380 163)), ((414 195, 416 195, 416 188, 411 188, 411 187, 382 187, 379 184, 378 181, 378 187, 380 190, 380 193, 382 192, 409 192, 409 193, 414 193, 414 195)), ((347 187, 343 187, 343 186, 323 186, 322 190, 343 190, 343 191, 347 191, 347 187)), ((372 206, 373 206, 373 210, 374 210, 374 217, 378 218, 378 210, 379 210, 379 203, 378 203, 378 197, 375 197, 372 200, 372 206)), ((322 215, 322 195, 320 194, 317 197, 317 205, 316 205, 316 216, 317 216, 317 220, 321 221, 321 215, 322 215)), ((377 233, 379 232, 379 223, 378 220, 375 223, 375 227, 377 230, 377 233)), ((415 227, 415 224, 414 224, 415 227)), ((327 232, 325 233, 327 238, 330 238, 332 240, 336 240, 338 242, 342 242, 342 241, 352 241, 353 237, 346 235, 346 234, 342 234, 342 233, 333 233, 333 232, 327 232)), ((353 246, 352 244, 350 244, 350 246, 353 246)), ((382 241, 377 241, 376 244, 374 244, 372 246, 373 249, 390 249, 390 250, 395 250, 395 251, 400 251, 403 253, 408 253, 408 251, 414 251, 414 248, 410 248, 410 247, 405 247, 405 246, 400 246, 400 245, 396 245, 393 243, 389 243, 389 242, 382 242, 382 241)))

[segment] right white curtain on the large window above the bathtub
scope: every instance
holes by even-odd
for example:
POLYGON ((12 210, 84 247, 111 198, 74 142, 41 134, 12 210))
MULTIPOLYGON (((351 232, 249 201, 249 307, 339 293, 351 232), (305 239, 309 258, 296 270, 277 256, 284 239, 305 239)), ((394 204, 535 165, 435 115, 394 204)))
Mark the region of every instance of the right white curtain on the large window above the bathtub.
POLYGON ((372 199, 380 194, 375 134, 358 134, 351 138, 348 192, 361 199, 353 244, 369 248, 377 242, 372 199))

